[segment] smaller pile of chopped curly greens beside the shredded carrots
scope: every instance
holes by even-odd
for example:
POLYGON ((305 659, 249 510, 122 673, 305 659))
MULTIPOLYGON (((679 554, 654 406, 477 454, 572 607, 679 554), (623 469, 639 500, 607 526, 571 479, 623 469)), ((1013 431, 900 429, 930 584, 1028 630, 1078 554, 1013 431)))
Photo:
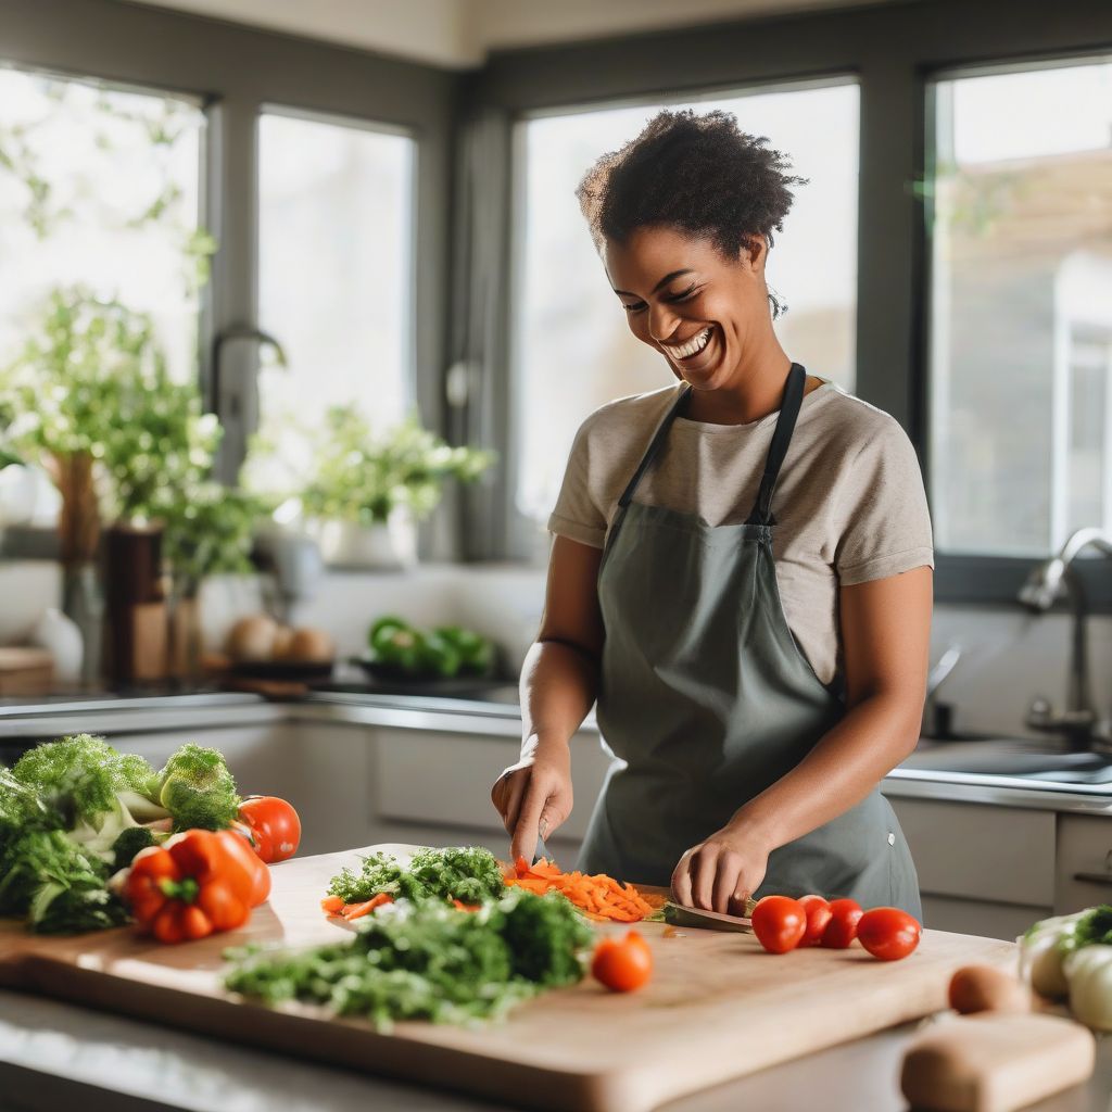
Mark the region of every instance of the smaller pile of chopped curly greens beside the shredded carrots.
POLYGON ((363 858, 359 872, 344 868, 328 885, 329 894, 345 903, 363 903, 379 892, 395 900, 483 903, 505 888, 497 860, 480 846, 419 850, 405 868, 386 854, 371 854, 363 858))

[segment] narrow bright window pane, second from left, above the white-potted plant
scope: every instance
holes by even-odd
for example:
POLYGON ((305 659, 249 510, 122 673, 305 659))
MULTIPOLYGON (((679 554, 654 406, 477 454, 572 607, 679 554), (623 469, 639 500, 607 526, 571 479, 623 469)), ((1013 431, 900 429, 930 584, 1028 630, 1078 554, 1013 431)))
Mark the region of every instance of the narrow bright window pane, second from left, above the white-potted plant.
POLYGON ((284 434, 329 406, 381 428, 410 404, 415 149, 369 127, 259 120, 259 321, 288 360, 260 373, 259 413, 282 465, 305 450, 284 434))

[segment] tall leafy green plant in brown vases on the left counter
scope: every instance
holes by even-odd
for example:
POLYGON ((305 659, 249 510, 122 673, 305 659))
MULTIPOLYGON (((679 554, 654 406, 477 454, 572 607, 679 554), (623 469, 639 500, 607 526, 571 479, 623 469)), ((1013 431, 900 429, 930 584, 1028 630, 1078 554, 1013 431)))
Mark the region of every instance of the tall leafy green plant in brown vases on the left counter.
MULTIPOLYGON (((162 514, 207 474, 219 425, 201 414, 195 385, 170 378, 150 318, 83 287, 50 294, 4 386, 9 443, 39 463, 61 494, 63 607, 81 628, 91 679, 99 671, 103 612, 95 563, 102 512, 113 522, 110 606, 155 607, 145 628, 157 631, 162 514)), ((117 678, 156 678, 159 647, 146 652, 125 622, 116 627, 117 678), (128 659, 153 672, 132 675, 128 659)))

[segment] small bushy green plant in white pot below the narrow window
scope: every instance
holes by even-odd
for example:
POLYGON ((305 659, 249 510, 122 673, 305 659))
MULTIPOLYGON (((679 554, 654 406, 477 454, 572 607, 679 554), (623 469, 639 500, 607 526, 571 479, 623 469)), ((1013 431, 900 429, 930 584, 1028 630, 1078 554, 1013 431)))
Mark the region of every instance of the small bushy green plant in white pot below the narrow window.
POLYGON ((376 435, 358 409, 334 406, 300 490, 301 509, 328 563, 401 567, 416 559, 416 522, 439 504, 444 484, 471 481, 495 458, 453 447, 416 416, 376 435))

